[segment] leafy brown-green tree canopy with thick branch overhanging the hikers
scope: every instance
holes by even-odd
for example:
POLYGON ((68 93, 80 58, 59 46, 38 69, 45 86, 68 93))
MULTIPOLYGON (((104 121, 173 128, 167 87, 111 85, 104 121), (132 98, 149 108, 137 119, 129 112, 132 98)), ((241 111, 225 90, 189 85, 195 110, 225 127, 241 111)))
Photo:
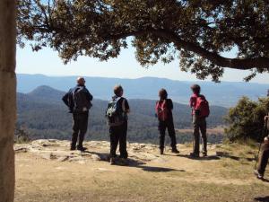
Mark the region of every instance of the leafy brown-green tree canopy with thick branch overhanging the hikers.
POLYGON ((269 4, 262 0, 20 0, 18 43, 64 62, 108 60, 134 46, 142 66, 179 57, 181 70, 219 81, 225 67, 269 72, 269 4), (127 40, 131 38, 131 42, 127 40), (236 49, 235 58, 223 53, 236 49))

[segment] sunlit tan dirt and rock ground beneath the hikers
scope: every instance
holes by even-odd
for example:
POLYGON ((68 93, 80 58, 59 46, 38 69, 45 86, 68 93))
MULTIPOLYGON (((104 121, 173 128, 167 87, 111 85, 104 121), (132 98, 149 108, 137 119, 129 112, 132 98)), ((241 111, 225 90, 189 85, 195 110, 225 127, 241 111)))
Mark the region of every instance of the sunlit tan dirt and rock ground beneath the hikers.
POLYGON ((130 144, 129 166, 109 165, 106 142, 88 142, 84 154, 68 145, 15 145, 16 202, 269 201, 269 182, 253 175, 256 148, 247 145, 211 145, 208 157, 190 159, 187 145, 160 155, 156 145, 130 144))

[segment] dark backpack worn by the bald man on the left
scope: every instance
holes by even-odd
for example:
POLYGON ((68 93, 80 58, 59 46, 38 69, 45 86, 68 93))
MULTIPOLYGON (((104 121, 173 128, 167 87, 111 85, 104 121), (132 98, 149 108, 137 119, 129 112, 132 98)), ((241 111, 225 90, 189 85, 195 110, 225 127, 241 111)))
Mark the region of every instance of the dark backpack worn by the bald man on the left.
POLYGON ((74 101, 74 111, 87 111, 91 108, 91 102, 87 100, 85 89, 83 86, 77 86, 72 92, 74 101))

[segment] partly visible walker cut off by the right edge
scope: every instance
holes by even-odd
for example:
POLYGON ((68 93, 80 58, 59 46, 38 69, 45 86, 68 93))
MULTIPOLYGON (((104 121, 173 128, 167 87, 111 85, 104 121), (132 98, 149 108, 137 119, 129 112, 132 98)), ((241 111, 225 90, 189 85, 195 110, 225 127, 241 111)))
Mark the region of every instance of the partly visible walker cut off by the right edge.
MULTIPOLYGON (((269 97, 269 90, 268 90, 267 96, 269 97)), ((265 180, 265 177, 264 177, 265 169, 266 169, 266 165, 269 159, 269 112, 267 116, 265 116, 265 127, 266 127, 265 129, 266 129, 267 136, 265 136, 265 139, 264 139, 265 142, 261 146, 261 153, 259 156, 257 169, 254 171, 254 173, 256 174, 256 177, 260 180, 265 180)))

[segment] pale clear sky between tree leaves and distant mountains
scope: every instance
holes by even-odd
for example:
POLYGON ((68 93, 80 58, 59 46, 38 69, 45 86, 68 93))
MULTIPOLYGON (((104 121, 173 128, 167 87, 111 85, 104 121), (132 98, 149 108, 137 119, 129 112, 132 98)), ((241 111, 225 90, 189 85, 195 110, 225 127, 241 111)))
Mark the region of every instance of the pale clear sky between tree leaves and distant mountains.
MULTIPOLYGON (((228 54, 234 57, 234 53, 228 54)), ((17 48, 17 68, 19 74, 42 74, 42 75, 84 75, 118 78, 138 78, 143 76, 153 76, 169 78, 180 81, 195 81, 195 75, 181 72, 178 60, 163 65, 144 68, 135 60, 134 48, 122 51, 116 59, 108 62, 100 62, 96 58, 79 57, 77 61, 72 61, 64 65, 57 56, 57 52, 50 48, 32 52, 30 47, 17 48)), ((226 69, 221 81, 241 82, 247 75, 247 71, 226 69)), ((210 79, 209 79, 210 80, 210 79)), ((258 75, 252 80, 255 83, 269 83, 269 74, 258 75)))

